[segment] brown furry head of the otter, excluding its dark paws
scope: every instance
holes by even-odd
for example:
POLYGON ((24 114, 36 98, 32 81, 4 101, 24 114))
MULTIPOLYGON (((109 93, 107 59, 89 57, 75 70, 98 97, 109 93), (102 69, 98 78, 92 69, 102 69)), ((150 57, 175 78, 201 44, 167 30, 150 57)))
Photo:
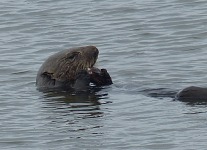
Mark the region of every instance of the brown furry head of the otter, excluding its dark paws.
MULTIPOLYGON (((74 83, 81 70, 92 68, 98 58, 98 49, 94 46, 72 48, 50 56, 41 66, 37 75, 58 82, 74 83)), ((44 83, 45 84, 45 83, 44 83)))

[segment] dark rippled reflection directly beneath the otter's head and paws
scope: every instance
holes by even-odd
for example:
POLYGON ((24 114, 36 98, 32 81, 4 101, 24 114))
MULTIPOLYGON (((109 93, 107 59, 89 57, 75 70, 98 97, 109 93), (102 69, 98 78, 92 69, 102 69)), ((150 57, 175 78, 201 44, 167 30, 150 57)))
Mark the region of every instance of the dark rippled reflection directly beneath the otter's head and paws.
POLYGON ((104 102, 100 101, 108 97, 108 94, 104 93, 104 89, 107 90, 107 87, 93 88, 88 92, 78 93, 69 91, 44 91, 44 108, 61 111, 62 115, 73 113, 81 118, 102 117, 104 114, 100 109, 100 105, 104 104, 104 102))

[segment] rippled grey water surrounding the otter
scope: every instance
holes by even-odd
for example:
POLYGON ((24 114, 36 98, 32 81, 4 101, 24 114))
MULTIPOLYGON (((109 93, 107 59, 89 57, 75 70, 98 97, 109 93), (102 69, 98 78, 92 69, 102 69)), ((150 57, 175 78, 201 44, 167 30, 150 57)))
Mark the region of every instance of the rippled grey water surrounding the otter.
POLYGON ((1 0, 0 37, 1 149, 206 149, 206 105, 147 91, 207 86, 207 1, 1 0), (36 90, 48 56, 85 45, 113 85, 36 90))

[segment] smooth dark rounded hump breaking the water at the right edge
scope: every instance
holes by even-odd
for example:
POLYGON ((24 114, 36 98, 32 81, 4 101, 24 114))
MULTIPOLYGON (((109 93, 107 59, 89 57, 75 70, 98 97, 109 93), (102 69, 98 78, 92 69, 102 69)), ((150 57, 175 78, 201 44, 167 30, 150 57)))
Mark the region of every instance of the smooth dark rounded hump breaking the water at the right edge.
POLYGON ((190 86, 178 92, 175 98, 183 102, 207 102, 207 88, 190 86))

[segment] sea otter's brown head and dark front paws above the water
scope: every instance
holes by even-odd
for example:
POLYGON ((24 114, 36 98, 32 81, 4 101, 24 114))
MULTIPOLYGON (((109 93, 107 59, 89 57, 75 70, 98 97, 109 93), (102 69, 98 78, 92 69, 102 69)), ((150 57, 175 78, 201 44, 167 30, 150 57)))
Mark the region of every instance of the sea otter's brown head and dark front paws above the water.
POLYGON ((99 51, 95 46, 71 48, 50 56, 40 67, 36 86, 39 89, 86 90, 90 82, 110 85, 106 69, 93 67, 99 51))

